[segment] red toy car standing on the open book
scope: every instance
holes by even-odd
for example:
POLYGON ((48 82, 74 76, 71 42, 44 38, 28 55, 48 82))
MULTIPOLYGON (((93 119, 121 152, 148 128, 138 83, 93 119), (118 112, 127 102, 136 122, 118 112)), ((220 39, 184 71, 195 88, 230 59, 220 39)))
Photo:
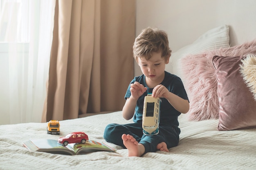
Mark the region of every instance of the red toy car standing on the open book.
POLYGON ((85 132, 73 132, 58 139, 58 143, 63 146, 67 146, 68 143, 85 143, 86 141, 88 141, 88 135, 85 132))

